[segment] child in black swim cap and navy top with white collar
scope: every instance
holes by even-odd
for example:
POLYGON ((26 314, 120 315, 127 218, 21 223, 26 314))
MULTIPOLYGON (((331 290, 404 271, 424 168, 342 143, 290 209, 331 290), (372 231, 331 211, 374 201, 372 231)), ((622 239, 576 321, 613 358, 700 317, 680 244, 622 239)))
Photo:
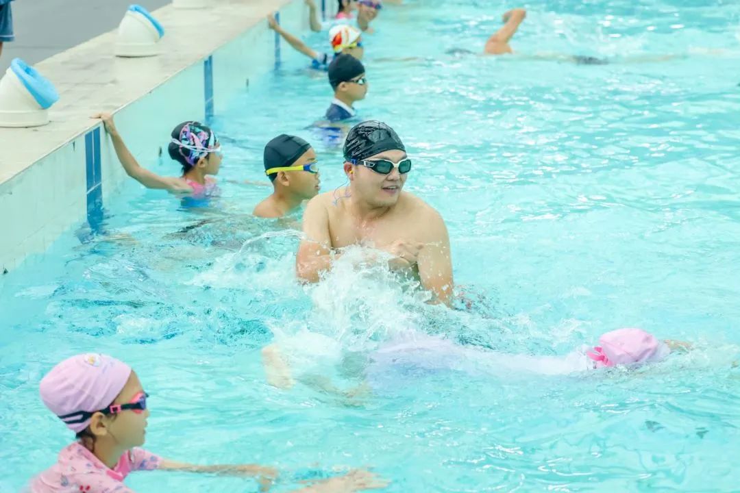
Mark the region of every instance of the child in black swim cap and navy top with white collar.
POLYGON ((352 106, 365 99, 368 92, 365 67, 351 55, 339 55, 329 64, 329 84, 334 89, 334 100, 326 110, 326 120, 337 122, 357 114, 352 106))

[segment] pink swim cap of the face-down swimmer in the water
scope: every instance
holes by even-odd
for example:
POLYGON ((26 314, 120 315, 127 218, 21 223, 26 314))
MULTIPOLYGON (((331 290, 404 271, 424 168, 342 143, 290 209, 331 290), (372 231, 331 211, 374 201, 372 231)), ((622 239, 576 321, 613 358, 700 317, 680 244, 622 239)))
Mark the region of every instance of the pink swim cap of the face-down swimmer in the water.
POLYGON ((631 327, 602 334, 599 344, 593 347, 593 351, 586 353, 596 361, 596 367, 660 361, 670 353, 664 342, 645 330, 631 327))

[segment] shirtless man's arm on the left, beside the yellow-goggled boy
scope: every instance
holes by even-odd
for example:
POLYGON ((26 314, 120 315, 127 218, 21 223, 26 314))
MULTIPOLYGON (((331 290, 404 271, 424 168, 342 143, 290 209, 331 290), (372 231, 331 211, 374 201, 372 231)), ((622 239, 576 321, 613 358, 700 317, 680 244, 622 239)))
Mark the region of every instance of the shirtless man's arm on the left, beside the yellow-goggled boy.
POLYGON ((312 198, 303 213, 303 239, 295 256, 299 279, 318 282, 320 273, 332 266, 332 238, 329 236, 329 214, 323 197, 312 198))

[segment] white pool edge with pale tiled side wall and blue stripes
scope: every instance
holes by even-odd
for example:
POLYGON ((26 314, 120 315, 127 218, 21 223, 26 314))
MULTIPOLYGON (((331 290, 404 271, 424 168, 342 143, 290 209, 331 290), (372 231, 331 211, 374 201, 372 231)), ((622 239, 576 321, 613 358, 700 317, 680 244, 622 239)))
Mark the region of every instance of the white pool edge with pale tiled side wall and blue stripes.
POLYGON ((206 118, 203 91, 209 83, 204 67, 212 70, 216 115, 246 90, 249 77, 275 67, 279 51, 275 33, 266 25, 269 12, 279 9, 281 24, 293 32, 308 27, 301 0, 213 3, 209 9, 168 5, 153 11, 165 29, 158 56, 115 57, 114 30, 35 65, 61 98, 50 109, 46 126, 0 128, 0 275, 46 251, 62 232, 83 222, 86 213, 90 219, 93 188, 98 205, 92 208, 101 208, 127 179, 110 139, 90 115, 116 112, 129 149, 147 162, 176 123, 206 118), (93 143, 96 176, 90 186, 93 143))

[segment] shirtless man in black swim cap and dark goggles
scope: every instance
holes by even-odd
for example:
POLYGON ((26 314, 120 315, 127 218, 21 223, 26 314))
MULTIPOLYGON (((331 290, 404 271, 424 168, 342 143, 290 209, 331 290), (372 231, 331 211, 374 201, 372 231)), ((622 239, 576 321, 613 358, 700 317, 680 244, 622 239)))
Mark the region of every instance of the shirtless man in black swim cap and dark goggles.
POLYGON ((417 277, 435 299, 449 304, 454 285, 447 228, 434 208, 403 191, 411 160, 396 132, 379 121, 359 123, 347 135, 344 161, 349 186, 338 191, 343 198, 320 194, 303 214, 298 277, 317 282, 341 248, 361 245, 387 253, 369 255, 368 261, 417 277))

